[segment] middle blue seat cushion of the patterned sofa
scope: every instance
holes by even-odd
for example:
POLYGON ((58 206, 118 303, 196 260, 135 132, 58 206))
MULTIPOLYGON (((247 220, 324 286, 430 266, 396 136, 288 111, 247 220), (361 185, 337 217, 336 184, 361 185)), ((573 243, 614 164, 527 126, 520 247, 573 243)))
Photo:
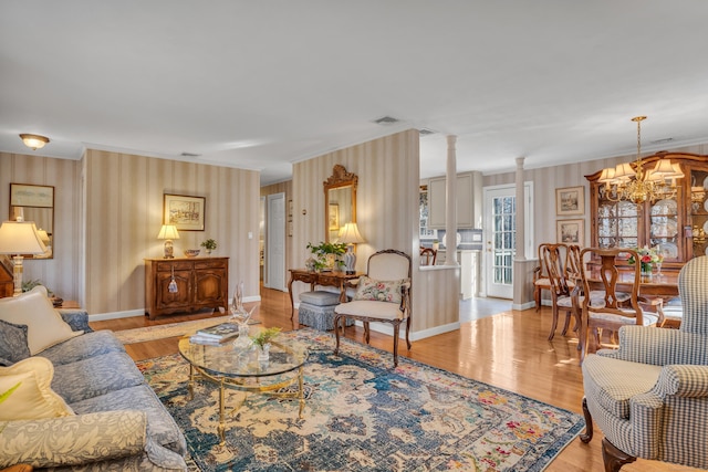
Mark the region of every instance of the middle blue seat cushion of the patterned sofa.
POLYGON ((144 381, 131 356, 108 353, 55 366, 52 388, 66 402, 74 403, 144 381))

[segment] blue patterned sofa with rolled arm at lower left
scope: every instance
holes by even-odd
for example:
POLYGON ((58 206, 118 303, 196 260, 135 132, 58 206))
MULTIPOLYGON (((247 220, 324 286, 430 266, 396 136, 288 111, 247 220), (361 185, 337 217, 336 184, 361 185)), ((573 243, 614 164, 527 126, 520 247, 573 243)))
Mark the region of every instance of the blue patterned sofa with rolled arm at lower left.
MULTIPOLYGON (((17 308, 12 303, 0 300, 0 345, 4 346, 0 365, 6 366, 0 369, 6 371, 25 361, 21 354, 20 359, 17 356, 22 340, 28 344, 27 325, 7 321, 17 308)), ((0 419, 0 469, 28 463, 52 471, 187 470, 184 436, 113 333, 91 329, 85 312, 58 312, 73 334, 27 359, 41 356, 51 361, 51 390, 65 401, 69 412, 55 418, 0 419)), ((30 345, 33 328, 29 328, 30 345)), ((15 395, 0 405, 0 418, 15 395)))

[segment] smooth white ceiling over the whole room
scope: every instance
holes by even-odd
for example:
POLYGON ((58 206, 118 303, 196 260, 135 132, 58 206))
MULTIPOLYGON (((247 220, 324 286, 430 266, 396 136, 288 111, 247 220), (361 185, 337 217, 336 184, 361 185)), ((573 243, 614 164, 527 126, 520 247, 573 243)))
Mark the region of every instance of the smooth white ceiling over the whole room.
POLYGON ((408 128, 420 177, 708 143, 705 0, 3 0, 0 150, 261 171, 408 128), (382 126, 377 118, 400 122, 382 126), (670 141, 662 141, 663 139, 670 141), (659 143, 653 143, 659 141, 659 143), (183 156, 183 153, 198 156, 183 156))

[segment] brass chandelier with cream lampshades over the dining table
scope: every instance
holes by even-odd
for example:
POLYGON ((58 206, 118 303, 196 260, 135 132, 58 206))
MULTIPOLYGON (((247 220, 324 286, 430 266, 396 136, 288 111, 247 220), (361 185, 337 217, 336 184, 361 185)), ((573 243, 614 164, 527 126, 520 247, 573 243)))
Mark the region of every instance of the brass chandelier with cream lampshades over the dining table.
POLYGON ((659 159, 653 169, 645 170, 642 162, 642 122, 646 116, 632 118, 637 124, 637 158, 634 164, 602 169, 598 182, 604 183, 604 197, 611 201, 627 200, 635 204, 676 197, 676 179, 684 177, 679 165, 659 159))

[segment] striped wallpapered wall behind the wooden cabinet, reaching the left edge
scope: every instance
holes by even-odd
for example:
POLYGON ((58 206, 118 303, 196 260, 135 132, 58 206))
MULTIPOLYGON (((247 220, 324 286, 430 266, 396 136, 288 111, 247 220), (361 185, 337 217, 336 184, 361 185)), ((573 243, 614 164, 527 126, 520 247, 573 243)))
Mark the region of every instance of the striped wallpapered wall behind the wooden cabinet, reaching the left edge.
POLYGON ((27 261, 24 277, 92 315, 144 310, 143 259, 163 256, 164 193, 206 197, 206 230, 181 231, 175 254, 212 238, 215 255, 231 258, 229 291, 243 279, 244 296, 259 296, 257 171, 98 150, 81 161, 0 154, 0 170, 6 218, 10 182, 55 187, 55 259, 27 261))

